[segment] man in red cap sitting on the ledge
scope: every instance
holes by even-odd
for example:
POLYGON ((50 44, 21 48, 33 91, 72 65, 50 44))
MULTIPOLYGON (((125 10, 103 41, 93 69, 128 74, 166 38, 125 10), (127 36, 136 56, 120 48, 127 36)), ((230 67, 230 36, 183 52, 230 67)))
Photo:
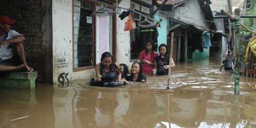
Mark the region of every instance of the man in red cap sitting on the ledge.
POLYGON ((15 30, 10 30, 16 20, 5 15, 0 16, 0 73, 14 70, 33 72, 26 62, 24 46, 25 37, 15 30))

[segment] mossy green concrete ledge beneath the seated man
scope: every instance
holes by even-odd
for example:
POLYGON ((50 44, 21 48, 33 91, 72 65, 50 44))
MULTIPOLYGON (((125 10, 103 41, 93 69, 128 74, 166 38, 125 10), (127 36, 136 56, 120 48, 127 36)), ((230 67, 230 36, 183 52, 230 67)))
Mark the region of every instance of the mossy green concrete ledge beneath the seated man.
POLYGON ((34 89, 37 72, 11 72, 9 76, 0 78, 0 87, 34 89))

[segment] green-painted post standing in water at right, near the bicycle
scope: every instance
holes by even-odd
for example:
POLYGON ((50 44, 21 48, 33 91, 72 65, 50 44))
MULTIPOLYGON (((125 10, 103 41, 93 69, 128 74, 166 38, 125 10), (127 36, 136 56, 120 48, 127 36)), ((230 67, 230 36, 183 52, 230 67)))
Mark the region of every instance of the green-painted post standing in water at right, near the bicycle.
POLYGON ((240 16, 240 9, 235 9, 235 21, 234 21, 234 27, 236 32, 236 38, 233 38, 235 40, 235 47, 233 49, 236 49, 236 53, 234 54, 235 57, 235 94, 239 93, 239 75, 240 75, 240 20, 241 18, 237 18, 237 16, 240 16))

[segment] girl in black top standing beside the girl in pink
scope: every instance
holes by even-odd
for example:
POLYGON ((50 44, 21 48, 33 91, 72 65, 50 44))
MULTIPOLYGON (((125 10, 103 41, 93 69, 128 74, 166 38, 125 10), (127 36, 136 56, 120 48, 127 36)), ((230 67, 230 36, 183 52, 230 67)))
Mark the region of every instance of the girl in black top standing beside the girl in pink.
MULTIPOLYGON (((161 44, 158 50, 160 55, 155 57, 155 69, 153 69, 152 72, 154 73, 156 71, 157 75, 168 75, 169 56, 166 54, 167 46, 161 44)), ((171 67, 175 67, 173 58, 171 60, 171 67)))

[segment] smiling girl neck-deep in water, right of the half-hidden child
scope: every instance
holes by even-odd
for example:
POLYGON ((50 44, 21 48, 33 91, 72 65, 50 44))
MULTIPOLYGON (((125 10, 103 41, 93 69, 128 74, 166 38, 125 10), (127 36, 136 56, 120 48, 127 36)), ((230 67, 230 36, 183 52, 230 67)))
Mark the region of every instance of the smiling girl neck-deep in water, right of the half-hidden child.
POLYGON ((133 82, 146 82, 146 76, 142 75, 142 65, 139 62, 134 62, 131 66, 131 75, 124 80, 126 83, 130 83, 128 81, 133 82))

